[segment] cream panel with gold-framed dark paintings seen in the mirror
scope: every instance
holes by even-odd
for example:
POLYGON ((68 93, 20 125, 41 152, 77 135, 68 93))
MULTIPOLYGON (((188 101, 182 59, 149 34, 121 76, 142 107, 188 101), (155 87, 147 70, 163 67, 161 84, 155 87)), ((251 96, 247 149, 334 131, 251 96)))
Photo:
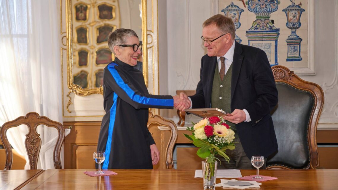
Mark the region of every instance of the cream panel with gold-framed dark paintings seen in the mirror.
POLYGON ((107 38, 120 28, 119 1, 72 0, 72 7, 73 82, 82 89, 100 88, 103 68, 115 58, 107 38))

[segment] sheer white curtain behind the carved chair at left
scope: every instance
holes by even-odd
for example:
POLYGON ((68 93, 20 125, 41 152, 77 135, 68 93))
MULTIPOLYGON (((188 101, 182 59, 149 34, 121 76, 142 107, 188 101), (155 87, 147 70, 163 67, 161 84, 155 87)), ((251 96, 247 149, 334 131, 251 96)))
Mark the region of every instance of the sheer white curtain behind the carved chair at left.
MULTIPOLYGON (((62 123, 59 27, 56 0, 0 0, 0 125, 28 112, 62 123)), ((27 155, 28 129, 16 128, 8 130, 8 139, 27 155)), ((51 144, 57 130, 39 126, 38 132, 43 144, 38 168, 54 168, 51 144)))

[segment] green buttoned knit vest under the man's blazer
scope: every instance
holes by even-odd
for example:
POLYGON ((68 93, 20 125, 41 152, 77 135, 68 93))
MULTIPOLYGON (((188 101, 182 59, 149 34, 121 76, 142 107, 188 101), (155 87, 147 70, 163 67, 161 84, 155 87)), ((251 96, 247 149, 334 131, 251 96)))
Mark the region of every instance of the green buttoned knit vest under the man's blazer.
MULTIPOLYGON (((223 80, 219 76, 219 70, 216 65, 214 80, 211 91, 211 108, 218 108, 226 113, 231 113, 231 75, 232 64, 226 72, 223 80)), ((230 121, 226 121, 226 124, 230 125, 236 133, 236 125, 230 121)))

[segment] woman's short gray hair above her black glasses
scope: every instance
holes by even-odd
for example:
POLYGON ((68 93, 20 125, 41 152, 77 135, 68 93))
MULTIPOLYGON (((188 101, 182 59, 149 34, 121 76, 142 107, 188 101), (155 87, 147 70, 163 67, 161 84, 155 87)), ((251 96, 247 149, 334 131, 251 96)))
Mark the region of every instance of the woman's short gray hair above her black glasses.
POLYGON ((115 55, 114 46, 119 46, 119 45, 124 44, 127 41, 128 37, 133 37, 133 36, 139 38, 134 30, 125 29, 125 28, 116 29, 115 31, 111 32, 108 35, 109 49, 115 55))

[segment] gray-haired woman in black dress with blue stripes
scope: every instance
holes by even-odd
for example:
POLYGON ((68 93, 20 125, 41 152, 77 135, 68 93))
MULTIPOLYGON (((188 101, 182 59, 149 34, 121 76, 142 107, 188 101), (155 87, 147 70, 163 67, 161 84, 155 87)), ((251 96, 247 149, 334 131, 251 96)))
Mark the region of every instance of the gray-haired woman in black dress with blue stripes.
POLYGON ((117 29, 108 46, 115 60, 104 68, 104 110, 97 151, 105 152, 103 169, 152 169, 160 154, 147 128, 148 108, 184 106, 178 96, 150 95, 143 74, 134 68, 142 44, 135 31, 117 29))

